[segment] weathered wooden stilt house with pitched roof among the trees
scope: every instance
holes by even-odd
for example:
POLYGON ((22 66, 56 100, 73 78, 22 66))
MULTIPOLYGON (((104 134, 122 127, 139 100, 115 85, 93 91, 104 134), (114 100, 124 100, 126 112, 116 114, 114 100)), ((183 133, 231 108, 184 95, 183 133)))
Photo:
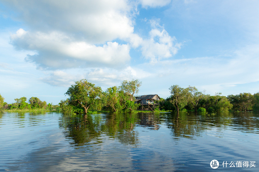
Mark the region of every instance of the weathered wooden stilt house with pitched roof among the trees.
POLYGON ((160 97, 157 94, 149 94, 142 96, 135 96, 135 103, 140 104, 139 111, 154 111, 155 108, 159 108, 160 97))

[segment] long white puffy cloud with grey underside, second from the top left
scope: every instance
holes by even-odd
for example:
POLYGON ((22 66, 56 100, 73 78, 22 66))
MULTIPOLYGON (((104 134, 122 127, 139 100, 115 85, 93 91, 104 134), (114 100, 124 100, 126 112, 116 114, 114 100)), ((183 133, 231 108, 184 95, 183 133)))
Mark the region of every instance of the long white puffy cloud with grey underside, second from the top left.
POLYGON ((35 55, 27 55, 27 60, 44 69, 71 67, 119 66, 129 62, 129 45, 107 42, 103 46, 77 41, 60 32, 31 33, 23 29, 11 36, 17 49, 35 50, 35 55))

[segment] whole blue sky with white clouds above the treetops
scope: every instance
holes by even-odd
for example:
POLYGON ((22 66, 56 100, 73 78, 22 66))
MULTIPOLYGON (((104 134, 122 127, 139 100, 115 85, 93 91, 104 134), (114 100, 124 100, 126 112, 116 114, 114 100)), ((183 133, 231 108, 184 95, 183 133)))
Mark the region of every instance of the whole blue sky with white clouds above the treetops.
POLYGON ((0 0, 0 94, 58 104, 75 81, 259 92, 259 1, 0 0))

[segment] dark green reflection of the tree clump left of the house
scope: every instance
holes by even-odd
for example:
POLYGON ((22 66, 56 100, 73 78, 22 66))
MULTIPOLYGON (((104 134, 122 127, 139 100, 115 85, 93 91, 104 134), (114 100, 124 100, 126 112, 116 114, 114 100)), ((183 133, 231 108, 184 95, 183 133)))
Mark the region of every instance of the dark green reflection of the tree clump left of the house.
POLYGON ((60 127, 65 129, 65 136, 73 140, 71 144, 102 143, 104 136, 114 138, 124 144, 136 145, 138 133, 134 127, 138 121, 136 114, 96 114, 96 115, 63 115, 60 127))

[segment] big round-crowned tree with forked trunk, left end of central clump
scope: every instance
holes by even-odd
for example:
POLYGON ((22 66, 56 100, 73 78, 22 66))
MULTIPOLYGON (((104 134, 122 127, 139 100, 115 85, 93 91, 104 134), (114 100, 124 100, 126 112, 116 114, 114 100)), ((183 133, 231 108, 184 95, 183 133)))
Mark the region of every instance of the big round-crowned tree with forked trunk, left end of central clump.
POLYGON ((88 108, 94 104, 97 98, 100 98, 101 93, 101 87, 82 79, 75 82, 75 85, 71 85, 65 94, 69 96, 68 102, 70 104, 80 105, 87 114, 88 108))

